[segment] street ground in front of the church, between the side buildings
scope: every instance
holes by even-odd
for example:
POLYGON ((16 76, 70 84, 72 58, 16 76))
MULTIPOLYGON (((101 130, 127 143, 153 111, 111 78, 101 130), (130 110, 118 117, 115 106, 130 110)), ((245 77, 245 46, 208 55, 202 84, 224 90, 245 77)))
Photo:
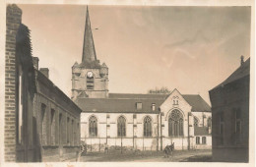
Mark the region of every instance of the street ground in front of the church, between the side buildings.
POLYGON ((82 162, 210 162, 212 150, 174 150, 171 157, 164 157, 162 151, 88 152, 80 157, 82 162))

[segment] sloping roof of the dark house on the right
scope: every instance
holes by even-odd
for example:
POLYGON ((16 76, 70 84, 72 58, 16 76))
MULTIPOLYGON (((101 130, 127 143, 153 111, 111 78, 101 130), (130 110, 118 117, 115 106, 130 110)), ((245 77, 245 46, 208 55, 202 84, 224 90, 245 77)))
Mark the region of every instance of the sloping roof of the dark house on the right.
POLYGON ((220 86, 223 86, 227 83, 232 83, 234 81, 237 81, 239 79, 242 79, 245 76, 250 75, 250 58, 248 58, 243 65, 241 65, 238 69, 236 69, 223 83, 217 85, 215 88, 218 88, 220 86))

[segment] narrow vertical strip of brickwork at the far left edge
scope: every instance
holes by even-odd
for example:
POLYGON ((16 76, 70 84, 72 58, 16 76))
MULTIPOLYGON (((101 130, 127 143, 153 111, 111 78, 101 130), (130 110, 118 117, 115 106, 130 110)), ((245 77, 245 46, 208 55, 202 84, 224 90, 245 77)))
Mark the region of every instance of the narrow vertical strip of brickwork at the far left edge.
POLYGON ((22 10, 8 5, 6 12, 5 55, 5 161, 16 161, 16 33, 21 24, 22 10))

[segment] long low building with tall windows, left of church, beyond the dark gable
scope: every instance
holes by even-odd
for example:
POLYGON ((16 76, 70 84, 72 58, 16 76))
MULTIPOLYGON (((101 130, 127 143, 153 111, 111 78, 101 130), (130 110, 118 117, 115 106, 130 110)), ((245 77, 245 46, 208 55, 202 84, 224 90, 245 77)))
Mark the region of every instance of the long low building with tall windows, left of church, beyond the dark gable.
POLYGON ((33 110, 37 120, 41 161, 77 158, 81 109, 38 71, 36 82, 33 110))

